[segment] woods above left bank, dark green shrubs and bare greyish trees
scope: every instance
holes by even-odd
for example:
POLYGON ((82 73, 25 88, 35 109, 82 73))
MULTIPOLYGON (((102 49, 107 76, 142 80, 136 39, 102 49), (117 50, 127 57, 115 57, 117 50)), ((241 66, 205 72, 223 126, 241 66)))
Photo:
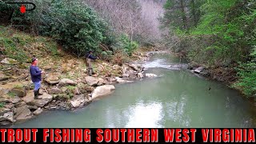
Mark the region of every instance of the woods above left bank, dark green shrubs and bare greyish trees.
MULTIPOLYGON (((0 2, 1 15, 10 14, 12 6, 0 2)), ((18 2, 18 1, 14 1, 18 2)), ((163 2, 153 0, 78 0, 31 1, 36 10, 26 14, 14 6, 13 17, 2 24, 35 35, 50 36, 62 47, 81 58, 94 50, 110 60, 118 54, 130 56, 139 46, 154 44, 160 38, 158 16, 163 2)), ((29 5, 25 5, 28 9, 29 5)), ((120 60, 119 60, 120 61, 120 60)), ((121 60, 122 61, 122 60, 121 60)))

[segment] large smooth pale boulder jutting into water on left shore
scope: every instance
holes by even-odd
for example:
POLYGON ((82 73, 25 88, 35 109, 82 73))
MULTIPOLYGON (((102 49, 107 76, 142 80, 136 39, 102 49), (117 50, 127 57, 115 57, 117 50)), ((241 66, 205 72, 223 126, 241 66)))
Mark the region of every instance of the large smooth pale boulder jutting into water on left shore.
POLYGON ((106 94, 110 94, 111 90, 114 90, 114 86, 113 85, 105 85, 105 86, 98 86, 93 94, 91 95, 91 98, 98 98, 100 96, 106 95, 106 94))

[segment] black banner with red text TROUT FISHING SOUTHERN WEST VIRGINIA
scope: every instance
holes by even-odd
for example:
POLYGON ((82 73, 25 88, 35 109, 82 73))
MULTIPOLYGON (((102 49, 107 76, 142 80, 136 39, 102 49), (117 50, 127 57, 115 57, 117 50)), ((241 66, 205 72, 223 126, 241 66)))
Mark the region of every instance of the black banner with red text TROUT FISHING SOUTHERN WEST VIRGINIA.
POLYGON ((0 129, 1 142, 255 142, 254 129, 0 129))

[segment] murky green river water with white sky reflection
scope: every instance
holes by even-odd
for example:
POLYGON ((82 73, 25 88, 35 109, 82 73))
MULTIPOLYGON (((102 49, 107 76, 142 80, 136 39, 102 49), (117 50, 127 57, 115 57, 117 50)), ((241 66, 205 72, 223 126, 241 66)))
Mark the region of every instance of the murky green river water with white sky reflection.
POLYGON ((179 59, 155 54, 145 63, 146 73, 161 77, 115 85, 113 94, 82 109, 47 111, 11 127, 255 126, 254 106, 237 91, 169 67, 175 64, 179 59))

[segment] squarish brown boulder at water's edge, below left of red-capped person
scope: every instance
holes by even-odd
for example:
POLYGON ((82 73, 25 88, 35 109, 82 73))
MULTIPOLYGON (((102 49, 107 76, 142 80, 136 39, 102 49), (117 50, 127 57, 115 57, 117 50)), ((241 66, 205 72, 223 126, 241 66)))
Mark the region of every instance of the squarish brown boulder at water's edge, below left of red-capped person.
POLYGON ((17 114, 14 115, 17 121, 23 121, 32 118, 33 114, 31 113, 28 106, 20 106, 17 108, 17 114))

